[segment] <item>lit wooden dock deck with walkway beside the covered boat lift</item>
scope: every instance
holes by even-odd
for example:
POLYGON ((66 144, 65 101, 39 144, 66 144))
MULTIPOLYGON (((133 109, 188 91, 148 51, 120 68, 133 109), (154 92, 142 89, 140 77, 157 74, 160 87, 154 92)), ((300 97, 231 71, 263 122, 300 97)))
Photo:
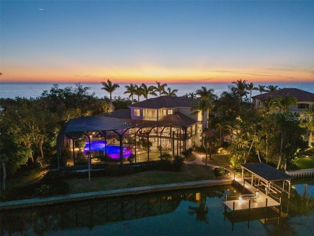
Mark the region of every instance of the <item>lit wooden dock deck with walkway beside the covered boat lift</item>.
POLYGON ((258 197, 255 196, 256 187, 252 186, 248 182, 244 183, 242 178, 235 178, 235 181, 247 189, 252 194, 243 194, 234 200, 226 200, 224 202, 225 206, 232 211, 245 210, 245 209, 255 209, 262 207, 277 207, 280 206, 280 201, 276 201, 270 196, 265 195, 261 191, 259 192, 258 197))

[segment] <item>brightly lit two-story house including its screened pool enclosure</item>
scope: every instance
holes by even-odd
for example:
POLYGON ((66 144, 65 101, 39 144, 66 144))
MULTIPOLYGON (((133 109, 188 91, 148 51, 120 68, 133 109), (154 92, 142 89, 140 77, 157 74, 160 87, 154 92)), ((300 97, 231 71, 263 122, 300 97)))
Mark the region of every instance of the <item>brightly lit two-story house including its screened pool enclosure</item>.
POLYGON ((64 153, 69 153, 66 150, 71 151, 74 165, 78 139, 84 139, 86 150, 94 151, 95 155, 109 155, 109 146, 120 147, 119 153, 109 156, 116 156, 121 163, 126 148, 140 161, 152 160, 153 156, 157 159, 162 152, 179 155, 193 145, 202 144, 202 131, 207 127, 209 114, 202 117, 201 111, 193 110, 193 104, 198 103, 199 100, 188 97, 160 96, 102 116, 71 119, 58 136, 58 156, 62 159, 64 153))

